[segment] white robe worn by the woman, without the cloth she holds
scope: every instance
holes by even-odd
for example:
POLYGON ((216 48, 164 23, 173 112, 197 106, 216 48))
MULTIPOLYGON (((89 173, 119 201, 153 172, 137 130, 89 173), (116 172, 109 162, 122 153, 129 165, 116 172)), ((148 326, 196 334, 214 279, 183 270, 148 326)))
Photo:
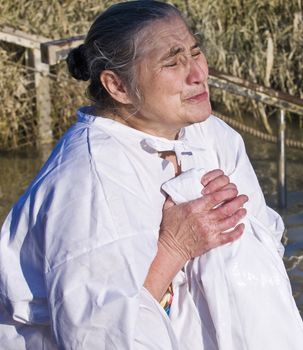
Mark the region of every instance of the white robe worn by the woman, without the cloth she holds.
MULTIPOLYGON (((161 186, 174 177, 173 165, 159 158, 152 144, 172 147, 182 171, 239 169, 245 181, 238 187, 250 197, 247 209, 270 228, 274 250, 279 249, 280 219, 266 209, 241 137, 213 116, 168 141, 88 112, 78 112, 78 122, 4 222, 1 347, 217 349, 195 268, 188 264, 186 274, 174 279, 170 317, 143 287, 157 249, 165 200, 161 186)), ((217 295, 220 291, 213 291, 209 304, 217 295)), ((289 312, 299 323, 294 304, 289 312)), ((285 329, 291 339, 287 323, 285 329)))

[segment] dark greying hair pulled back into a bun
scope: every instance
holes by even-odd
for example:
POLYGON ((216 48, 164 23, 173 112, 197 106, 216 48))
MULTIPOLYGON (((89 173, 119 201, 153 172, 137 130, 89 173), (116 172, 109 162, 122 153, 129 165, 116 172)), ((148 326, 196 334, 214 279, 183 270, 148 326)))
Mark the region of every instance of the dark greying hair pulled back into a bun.
POLYGON ((100 82, 100 73, 105 69, 114 71, 129 92, 139 98, 134 71, 138 56, 136 38, 151 22, 172 16, 181 14, 172 5, 159 1, 112 5, 93 22, 84 44, 69 53, 71 75, 78 80, 90 80, 88 95, 102 109, 113 103, 100 82))

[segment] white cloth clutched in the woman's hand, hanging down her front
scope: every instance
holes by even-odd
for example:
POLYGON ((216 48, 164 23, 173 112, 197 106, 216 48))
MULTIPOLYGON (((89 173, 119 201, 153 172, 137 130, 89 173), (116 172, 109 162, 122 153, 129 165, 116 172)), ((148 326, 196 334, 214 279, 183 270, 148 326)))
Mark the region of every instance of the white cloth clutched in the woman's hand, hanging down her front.
MULTIPOLYGON (((177 204, 197 199, 202 196, 199 183, 204 173, 187 170, 162 189, 177 204)), ((231 182, 237 184, 237 176, 241 173, 233 172, 231 182)), ((281 223, 277 217, 271 211, 272 226, 281 223)), ((276 237, 249 210, 242 222, 245 231, 237 241, 208 251, 186 267, 204 328, 213 325, 212 342, 219 350, 299 350, 302 320, 276 237), (210 319, 205 318, 206 309, 210 319)))

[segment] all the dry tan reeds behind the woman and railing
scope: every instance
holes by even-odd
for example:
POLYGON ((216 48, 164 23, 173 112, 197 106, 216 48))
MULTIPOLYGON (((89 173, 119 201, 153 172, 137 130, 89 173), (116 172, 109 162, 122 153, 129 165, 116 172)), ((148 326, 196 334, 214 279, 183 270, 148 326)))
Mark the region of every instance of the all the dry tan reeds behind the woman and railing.
MULTIPOLYGON (((85 34, 109 0, 0 0, 0 27, 49 39, 85 34)), ((174 0, 201 37, 210 67, 303 98, 302 0, 174 0)), ((36 135, 32 74, 22 48, 0 42, 0 148, 18 148, 36 135)), ((68 76, 65 63, 50 74, 53 133, 58 138, 88 103, 85 83, 68 76)), ((215 108, 235 118, 254 116, 272 132, 276 111, 213 89, 215 108), (272 117, 273 116, 273 117, 272 117), (272 118, 271 118, 272 117, 272 118)), ((289 116, 291 120, 292 116, 289 116)), ((250 118, 252 119, 252 118, 250 118)), ((298 126, 299 118, 293 118, 298 126)))

